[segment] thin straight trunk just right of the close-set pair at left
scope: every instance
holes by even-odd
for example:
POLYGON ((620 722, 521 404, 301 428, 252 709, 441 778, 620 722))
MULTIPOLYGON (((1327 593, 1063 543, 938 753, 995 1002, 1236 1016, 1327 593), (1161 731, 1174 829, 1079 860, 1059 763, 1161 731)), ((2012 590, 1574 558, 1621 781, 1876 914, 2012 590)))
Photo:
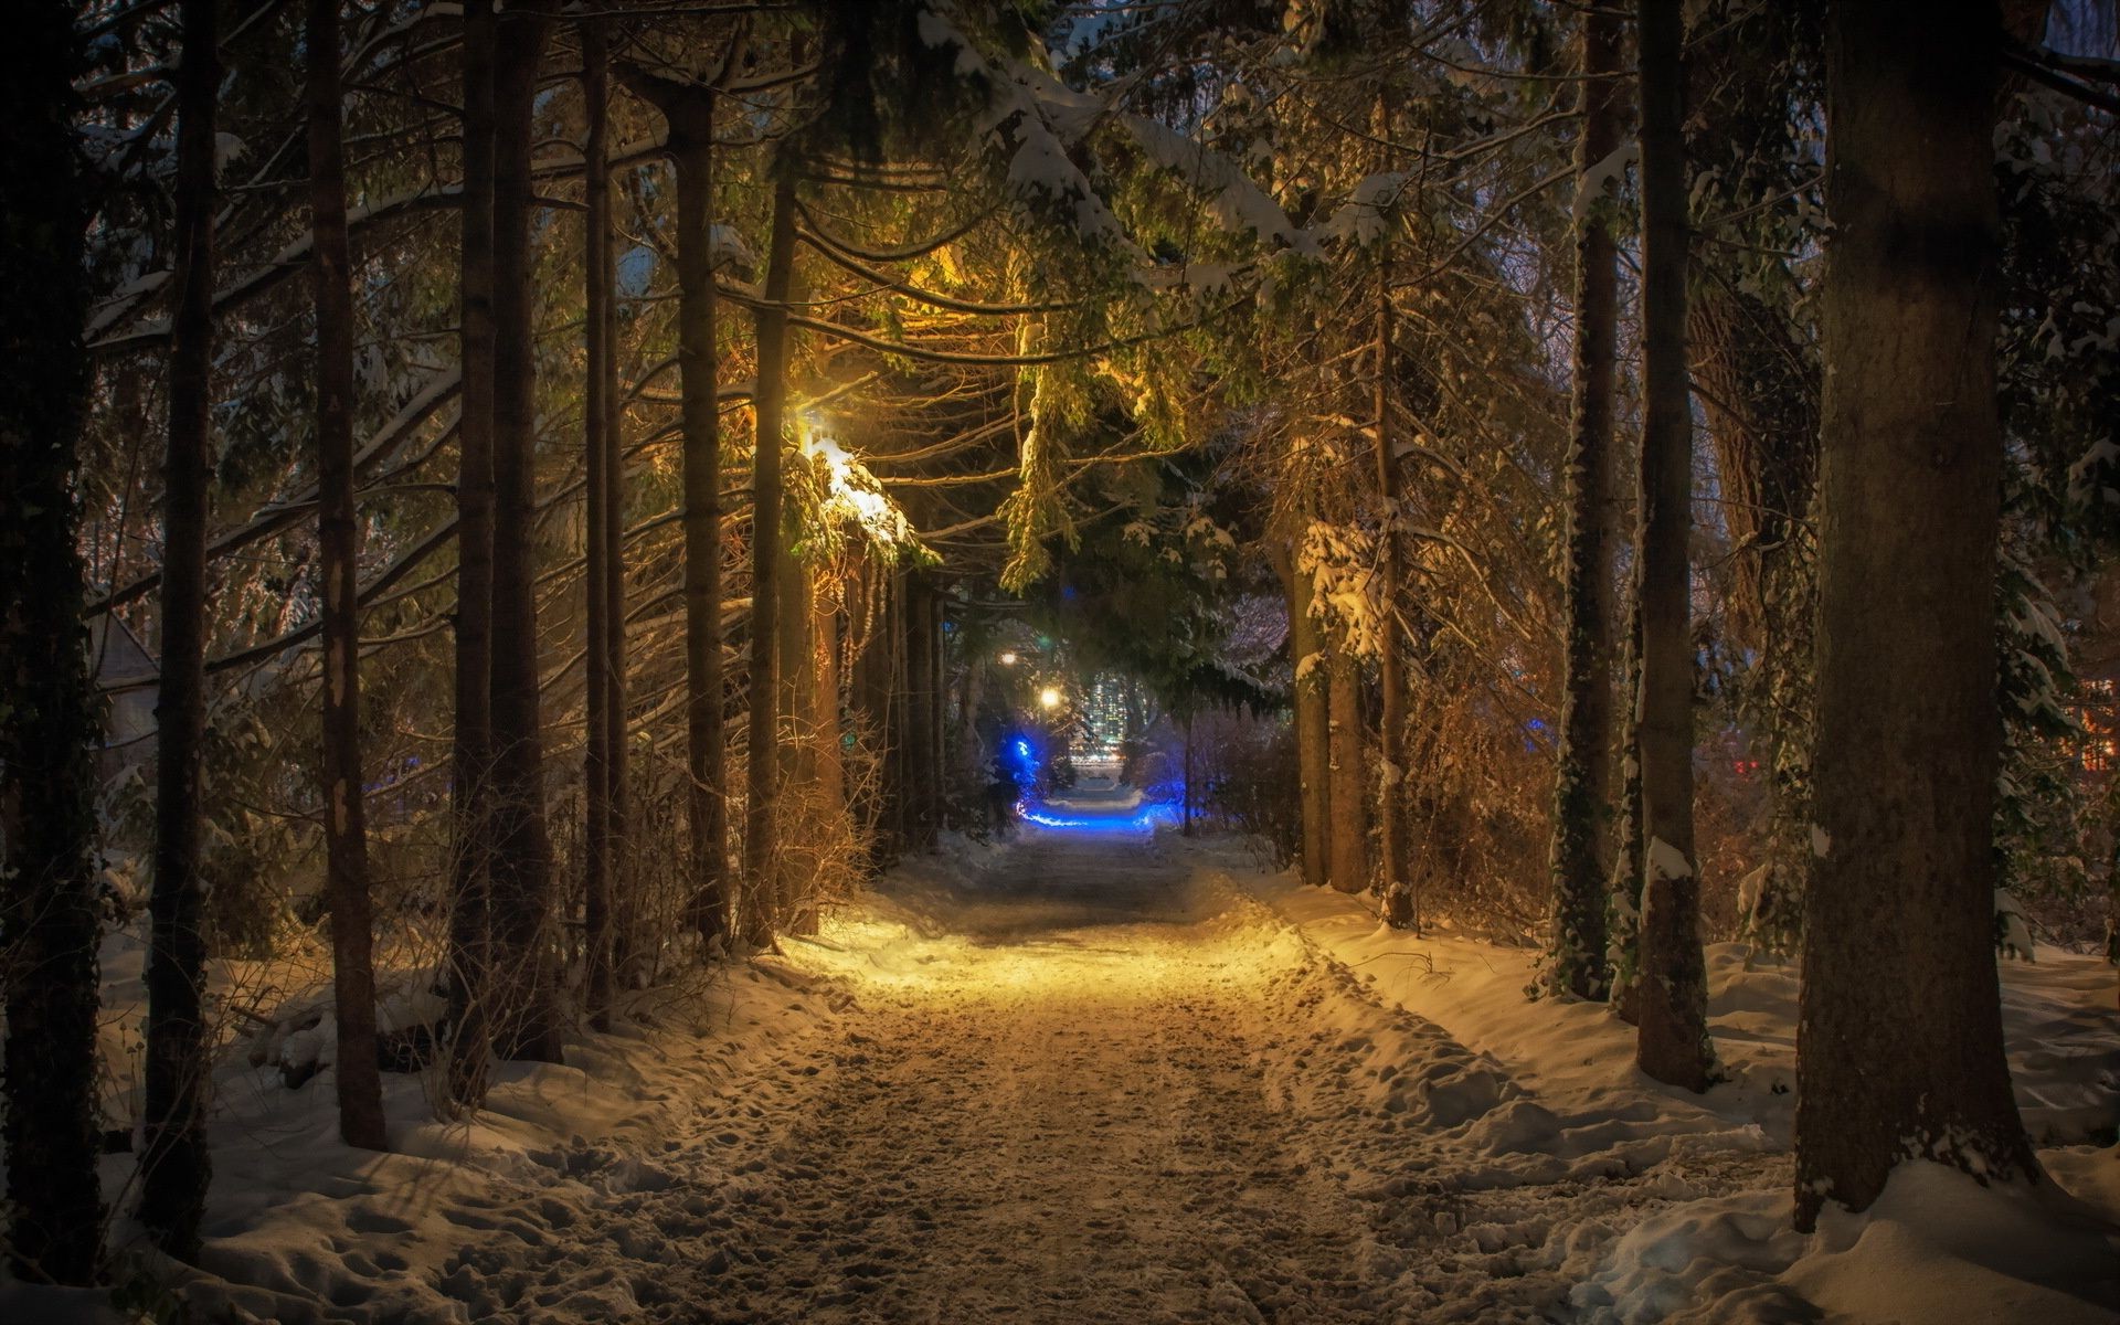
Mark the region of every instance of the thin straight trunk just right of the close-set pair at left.
POLYGON ((587 689, 587 753, 583 759, 583 782, 587 784, 587 823, 583 842, 587 848, 587 869, 581 888, 583 943, 587 948, 587 971, 583 973, 583 1005, 589 1024, 598 1030, 611 1026, 611 895, 617 876, 619 840, 613 823, 613 801, 617 799, 617 748, 621 742, 619 721, 613 712, 613 615, 623 611, 613 600, 615 579, 611 555, 617 541, 611 526, 617 519, 619 494, 613 483, 615 464, 611 452, 613 437, 613 318, 611 318, 611 55, 606 51, 604 19, 579 19, 581 34, 581 100, 587 114, 587 134, 581 151, 583 159, 583 329, 587 350, 587 373, 583 382, 583 449, 589 507, 587 549, 583 577, 587 581, 587 640, 583 647, 583 670, 587 689))

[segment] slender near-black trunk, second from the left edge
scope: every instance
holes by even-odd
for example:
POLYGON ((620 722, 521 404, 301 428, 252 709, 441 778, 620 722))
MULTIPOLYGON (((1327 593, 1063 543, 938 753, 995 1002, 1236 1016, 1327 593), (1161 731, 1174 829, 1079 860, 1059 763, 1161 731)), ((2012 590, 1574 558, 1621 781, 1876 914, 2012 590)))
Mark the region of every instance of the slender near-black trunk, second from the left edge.
POLYGON ((199 1255, 199 1219, 212 1181, 199 744, 206 734, 206 475, 214 365, 214 95, 220 87, 214 0, 184 0, 182 23, 140 1221, 161 1251, 191 1261, 199 1255))

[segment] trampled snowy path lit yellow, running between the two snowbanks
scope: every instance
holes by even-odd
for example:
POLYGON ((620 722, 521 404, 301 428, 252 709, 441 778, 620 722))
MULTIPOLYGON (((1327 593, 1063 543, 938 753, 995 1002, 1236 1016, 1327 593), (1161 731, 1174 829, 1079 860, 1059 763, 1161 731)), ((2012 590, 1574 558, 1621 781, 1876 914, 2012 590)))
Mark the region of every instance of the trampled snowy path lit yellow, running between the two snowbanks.
POLYGON ((664 1153, 581 1147, 458 1211, 443 1291, 524 1321, 1543 1321, 1582 1270, 1541 1251, 1554 1198, 1658 1196, 1624 1158, 1463 1151, 1558 1119, 1145 837, 1041 835, 899 903, 810 952, 854 994, 840 1035, 664 1153))

